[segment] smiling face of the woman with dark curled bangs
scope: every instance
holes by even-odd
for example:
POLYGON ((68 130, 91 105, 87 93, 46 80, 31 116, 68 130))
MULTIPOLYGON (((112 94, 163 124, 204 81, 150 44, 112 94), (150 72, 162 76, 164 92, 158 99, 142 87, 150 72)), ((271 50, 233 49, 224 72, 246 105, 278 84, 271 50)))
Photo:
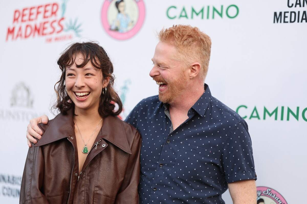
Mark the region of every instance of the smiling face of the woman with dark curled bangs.
POLYGON ((84 67, 77 68, 84 60, 82 54, 77 54, 75 63, 66 68, 65 87, 68 96, 75 104, 75 109, 97 109, 103 87, 108 80, 103 80, 101 69, 95 68, 91 61, 84 67))

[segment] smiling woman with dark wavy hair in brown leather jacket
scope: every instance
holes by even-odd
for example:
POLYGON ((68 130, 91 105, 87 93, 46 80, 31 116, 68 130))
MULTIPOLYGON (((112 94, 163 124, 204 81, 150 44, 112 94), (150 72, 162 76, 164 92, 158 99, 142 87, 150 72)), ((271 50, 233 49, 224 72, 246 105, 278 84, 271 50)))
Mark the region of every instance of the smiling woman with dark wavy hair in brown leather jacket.
POLYGON ((117 117, 110 58, 96 43, 74 43, 57 63, 60 114, 29 148, 20 203, 138 203, 141 137, 117 117))

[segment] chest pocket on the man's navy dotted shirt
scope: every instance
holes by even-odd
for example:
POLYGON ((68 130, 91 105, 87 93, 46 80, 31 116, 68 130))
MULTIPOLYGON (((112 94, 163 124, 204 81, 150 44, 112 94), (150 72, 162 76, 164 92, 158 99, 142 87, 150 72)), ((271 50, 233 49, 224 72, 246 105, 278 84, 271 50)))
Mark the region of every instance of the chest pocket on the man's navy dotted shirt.
POLYGON ((204 175, 213 174, 213 172, 208 171, 213 166, 212 160, 214 158, 215 150, 211 147, 205 149, 188 143, 182 143, 172 172, 185 181, 201 180, 204 178, 204 175))

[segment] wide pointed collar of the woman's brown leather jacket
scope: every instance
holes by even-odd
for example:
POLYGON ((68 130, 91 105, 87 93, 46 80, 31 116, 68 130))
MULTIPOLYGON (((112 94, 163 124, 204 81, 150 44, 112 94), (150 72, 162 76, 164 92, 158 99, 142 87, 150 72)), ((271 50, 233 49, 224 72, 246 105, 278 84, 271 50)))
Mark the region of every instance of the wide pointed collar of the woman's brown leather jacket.
MULTIPOLYGON (((121 150, 128 154, 132 154, 122 123, 123 122, 116 116, 105 117, 97 138, 106 139, 121 150)), ((66 137, 75 137, 73 109, 68 110, 65 115, 63 113, 58 114, 54 119, 50 120, 46 126, 46 131, 34 147, 49 144, 66 137)))

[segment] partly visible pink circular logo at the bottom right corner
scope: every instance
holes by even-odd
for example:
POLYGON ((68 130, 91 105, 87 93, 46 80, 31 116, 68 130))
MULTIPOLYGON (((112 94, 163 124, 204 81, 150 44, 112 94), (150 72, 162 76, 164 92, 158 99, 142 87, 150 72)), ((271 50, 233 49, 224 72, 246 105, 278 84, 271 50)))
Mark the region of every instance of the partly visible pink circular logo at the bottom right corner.
POLYGON ((257 204, 287 204, 287 201, 280 193, 273 188, 258 186, 257 187, 257 204))

